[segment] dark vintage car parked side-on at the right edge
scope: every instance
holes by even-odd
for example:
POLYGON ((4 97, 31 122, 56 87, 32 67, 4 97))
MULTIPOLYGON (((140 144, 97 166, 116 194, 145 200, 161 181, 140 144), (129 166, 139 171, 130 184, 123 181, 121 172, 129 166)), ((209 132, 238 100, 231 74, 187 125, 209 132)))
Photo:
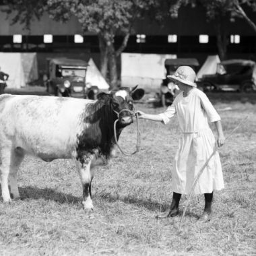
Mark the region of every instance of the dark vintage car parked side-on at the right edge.
POLYGON ((254 61, 230 59, 217 64, 213 75, 203 75, 197 86, 204 92, 256 92, 256 65, 254 61))

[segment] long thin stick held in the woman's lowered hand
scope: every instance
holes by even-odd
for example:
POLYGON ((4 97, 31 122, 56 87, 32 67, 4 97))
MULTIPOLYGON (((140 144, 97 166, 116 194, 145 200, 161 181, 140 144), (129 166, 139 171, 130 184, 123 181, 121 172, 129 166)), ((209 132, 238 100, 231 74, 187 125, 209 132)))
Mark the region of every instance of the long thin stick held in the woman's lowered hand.
MULTIPOLYGON (((242 125, 242 123, 245 123, 245 121, 247 120, 248 117, 249 117, 249 116, 245 117, 240 123, 238 123, 238 125, 237 125, 237 126, 231 131, 231 133, 226 137, 225 141, 226 141, 228 138, 230 138, 230 136, 234 133, 234 131, 236 131, 236 130, 238 129, 238 127, 240 127, 240 125, 242 125)), ((210 162, 212 156, 214 156, 214 154, 216 153, 217 150, 218 150, 218 146, 217 146, 217 144, 216 144, 216 145, 214 146, 214 151, 213 151, 212 154, 209 156, 209 158, 206 160, 205 164, 203 164, 202 168, 199 170, 199 172, 197 173, 197 176, 195 177, 195 181, 194 181, 194 183, 193 183, 193 185, 192 185, 192 188, 191 188, 191 191, 190 191, 190 193, 189 193, 189 198, 187 199, 187 204, 186 204, 186 206, 185 206, 185 209, 184 209, 184 211, 183 211, 183 215, 182 215, 182 217, 181 217, 181 222, 180 222, 180 224, 179 224, 179 231, 178 231, 178 232, 180 232, 180 230, 181 230, 181 225, 182 225, 182 222, 183 222, 183 218, 184 218, 185 213, 186 213, 186 211, 187 211, 187 207, 188 207, 188 205, 189 205, 189 199, 190 199, 190 197, 191 197, 191 195, 192 195, 192 193, 193 193, 193 191, 194 191, 194 189, 195 189, 195 185, 197 185, 197 181, 199 180, 201 174, 203 173, 203 170, 205 169, 205 167, 207 166, 207 164, 210 162)))

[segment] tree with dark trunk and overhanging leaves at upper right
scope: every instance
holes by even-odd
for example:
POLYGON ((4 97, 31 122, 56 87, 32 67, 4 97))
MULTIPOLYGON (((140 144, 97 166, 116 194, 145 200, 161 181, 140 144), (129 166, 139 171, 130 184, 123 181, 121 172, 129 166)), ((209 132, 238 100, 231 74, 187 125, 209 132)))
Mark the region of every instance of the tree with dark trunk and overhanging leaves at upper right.
POLYGON ((218 51, 222 60, 226 59, 226 46, 228 44, 226 26, 228 22, 234 22, 236 18, 243 18, 256 32, 256 25, 243 9, 247 5, 252 11, 256 11, 255 0, 177 0, 170 6, 170 14, 177 18, 181 6, 191 5, 195 7, 198 4, 205 7, 208 20, 214 22, 218 51))

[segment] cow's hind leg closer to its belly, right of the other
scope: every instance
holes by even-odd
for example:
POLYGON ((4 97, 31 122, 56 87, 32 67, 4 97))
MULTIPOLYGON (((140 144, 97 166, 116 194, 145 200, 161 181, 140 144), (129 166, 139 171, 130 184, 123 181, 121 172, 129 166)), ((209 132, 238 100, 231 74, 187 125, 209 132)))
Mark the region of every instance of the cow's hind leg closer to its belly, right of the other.
POLYGON ((9 185, 11 188, 11 194, 13 199, 19 199, 20 193, 18 189, 17 174, 20 168, 20 164, 24 159, 24 152, 21 149, 15 149, 11 152, 11 166, 9 171, 9 185))

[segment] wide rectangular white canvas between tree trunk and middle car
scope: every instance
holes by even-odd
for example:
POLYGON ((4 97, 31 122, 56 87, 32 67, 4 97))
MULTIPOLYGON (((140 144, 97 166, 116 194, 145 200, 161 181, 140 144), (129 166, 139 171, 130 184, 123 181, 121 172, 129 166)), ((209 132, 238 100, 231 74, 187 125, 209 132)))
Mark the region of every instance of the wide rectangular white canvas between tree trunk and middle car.
POLYGON ((177 59, 177 55, 160 54, 121 54, 121 84, 141 88, 159 88, 162 79, 166 78, 164 61, 177 59))

